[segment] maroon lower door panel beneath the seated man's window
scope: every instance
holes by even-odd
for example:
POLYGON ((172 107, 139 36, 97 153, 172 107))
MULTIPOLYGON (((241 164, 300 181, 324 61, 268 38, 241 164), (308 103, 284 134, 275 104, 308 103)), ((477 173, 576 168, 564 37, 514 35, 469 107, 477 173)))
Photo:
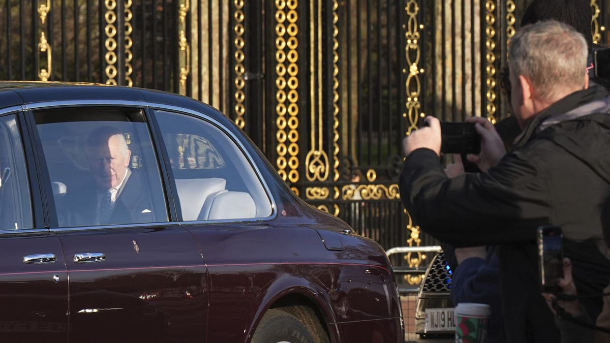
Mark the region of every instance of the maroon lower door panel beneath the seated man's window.
POLYGON ((187 231, 173 226, 56 235, 70 274, 71 341, 204 342, 206 266, 187 231), (76 262, 77 255, 94 257, 76 262))

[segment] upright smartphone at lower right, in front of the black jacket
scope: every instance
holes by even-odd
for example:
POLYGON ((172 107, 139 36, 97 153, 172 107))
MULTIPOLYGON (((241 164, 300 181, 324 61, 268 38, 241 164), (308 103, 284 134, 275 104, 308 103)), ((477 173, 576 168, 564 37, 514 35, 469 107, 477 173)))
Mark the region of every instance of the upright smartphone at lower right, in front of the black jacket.
POLYGON ((542 292, 558 293, 559 278, 564 277, 563 234, 561 226, 538 228, 538 257, 542 292))

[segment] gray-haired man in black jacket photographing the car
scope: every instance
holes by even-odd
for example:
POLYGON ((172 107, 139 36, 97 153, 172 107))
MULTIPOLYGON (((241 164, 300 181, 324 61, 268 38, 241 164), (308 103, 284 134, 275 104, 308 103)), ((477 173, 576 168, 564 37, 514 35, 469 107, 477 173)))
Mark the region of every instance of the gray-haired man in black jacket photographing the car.
MULTIPOLYGON (((610 194, 610 98, 600 87, 587 89, 586 63, 587 43, 570 26, 547 21, 517 32, 509 52, 511 104, 523 133, 506 154, 489 121, 471 119, 482 136, 473 161, 486 173, 443 173, 436 118, 403 142, 401 200, 414 222, 458 247, 498 244, 508 342, 559 341, 537 282, 536 228, 561 225, 572 241, 610 230, 601 215, 610 194)), ((575 263, 596 253, 565 247, 575 263)), ((606 267, 598 274, 607 285, 606 267)))

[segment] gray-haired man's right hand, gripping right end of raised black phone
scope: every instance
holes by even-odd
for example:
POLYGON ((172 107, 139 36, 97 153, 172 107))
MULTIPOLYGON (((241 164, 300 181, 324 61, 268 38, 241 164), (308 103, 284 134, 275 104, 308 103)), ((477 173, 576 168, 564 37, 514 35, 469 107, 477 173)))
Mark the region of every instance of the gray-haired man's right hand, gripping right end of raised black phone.
POLYGON ((466 121, 475 123, 476 132, 481 135, 481 153, 478 155, 468 154, 466 158, 478 165, 481 171, 487 173, 487 170, 497 165, 506 154, 504 142, 487 118, 468 117, 466 121))

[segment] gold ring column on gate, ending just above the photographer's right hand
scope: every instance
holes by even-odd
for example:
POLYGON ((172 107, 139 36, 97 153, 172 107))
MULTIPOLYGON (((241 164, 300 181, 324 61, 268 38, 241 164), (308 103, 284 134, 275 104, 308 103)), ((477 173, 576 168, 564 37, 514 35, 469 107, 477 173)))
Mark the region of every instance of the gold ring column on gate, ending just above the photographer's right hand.
POLYGON ((489 119, 489 121, 492 122, 492 124, 495 124, 496 122, 496 118, 495 118, 495 112, 496 112, 496 93, 495 93, 495 85, 496 85, 496 67, 495 67, 495 61, 496 61, 496 54, 495 54, 495 35, 496 35, 496 30, 495 30, 495 23, 496 23, 496 18, 494 15, 494 11, 495 11, 495 2, 493 0, 486 0, 485 3, 485 10, 486 10, 486 14, 485 14, 485 21, 486 21, 486 28, 485 28, 485 35, 486 35, 486 42, 485 42, 485 49, 486 49, 486 85, 487 85, 487 93, 486 93, 486 97, 487 97, 487 106, 486 106, 486 110, 487 110, 487 118, 489 119))

